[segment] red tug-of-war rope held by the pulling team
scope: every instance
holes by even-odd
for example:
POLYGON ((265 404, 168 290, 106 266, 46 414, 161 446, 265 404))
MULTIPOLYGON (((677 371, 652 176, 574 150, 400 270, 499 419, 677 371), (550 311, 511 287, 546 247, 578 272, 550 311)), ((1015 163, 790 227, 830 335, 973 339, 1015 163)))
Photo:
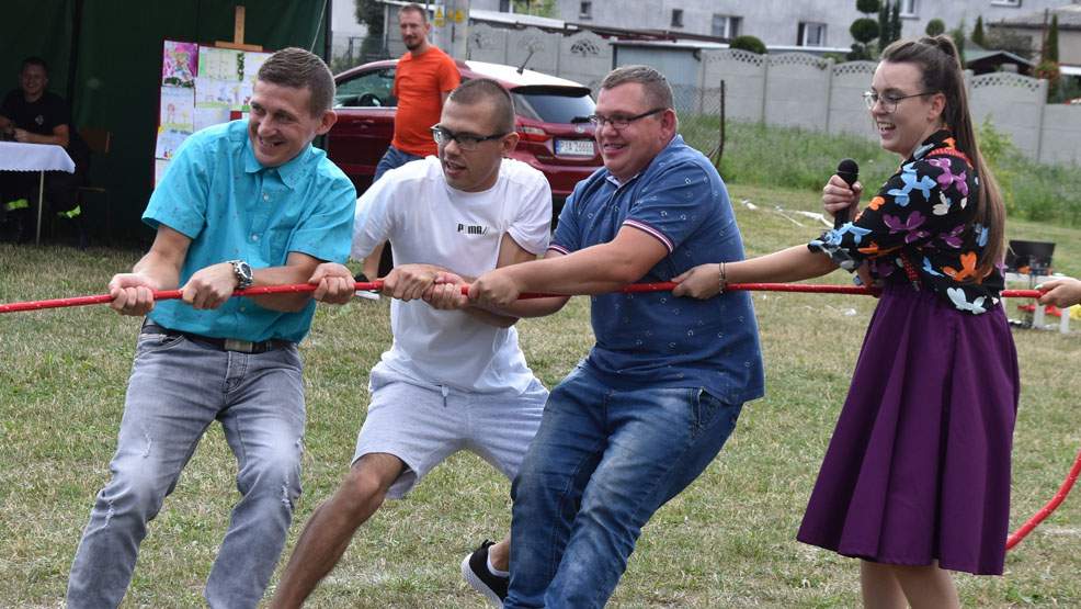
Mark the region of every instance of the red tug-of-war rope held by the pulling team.
MULTIPOLYGON (((634 283, 618 290, 618 292, 635 293, 635 292, 665 292, 675 287, 675 283, 672 282, 660 282, 660 283, 634 283)), ((269 294, 285 294, 295 292, 314 292, 316 285, 308 283, 299 283, 296 285, 268 285, 263 287, 248 287, 246 290, 237 290, 232 293, 234 296, 265 296, 269 294)), ((382 281, 371 281, 365 283, 356 283, 354 290, 383 290, 382 281)), ((872 287, 857 287, 854 285, 810 285, 804 283, 732 283, 725 287, 725 290, 732 291, 762 291, 762 292, 810 292, 816 294, 858 294, 877 296, 880 291, 872 287)), ((469 286, 463 285, 462 293, 468 294, 469 286)), ((520 295, 520 298, 543 298, 547 296, 553 296, 554 294, 538 294, 538 293, 524 293, 520 295)), ((1039 290, 1003 290, 1002 296, 1009 298, 1038 298, 1044 295, 1044 292, 1039 290)), ((163 290, 153 293, 155 301, 168 301, 181 297, 180 290, 163 290)), ((109 294, 99 294, 96 296, 79 296, 73 298, 56 298, 52 301, 34 301, 26 303, 11 303, 11 304, 0 304, 0 313, 15 313, 20 311, 39 311, 45 308, 61 308, 68 306, 83 306, 92 304, 104 304, 112 302, 113 297, 109 294)), ((1066 477, 1066 482, 1059 488, 1055 497, 1047 503, 1046 506, 1040 508, 1039 511, 1033 516, 1028 522, 1025 522, 1023 527, 1017 529, 1012 535, 1006 539, 1006 550, 1013 549, 1017 545, 1021 540, 1025 539, 1037 525, 1044 521, 1045 518, 1050 516, 1059 504, 1066 499, 1066 496, 1070 493, 1073 487, 1073 483, 1077 482, 1078 475, 1081 474, 1081 453, 1078 454, 1077 461, 1073 462, 1073 467, 1070 469, 1069 475, 1066 477)))

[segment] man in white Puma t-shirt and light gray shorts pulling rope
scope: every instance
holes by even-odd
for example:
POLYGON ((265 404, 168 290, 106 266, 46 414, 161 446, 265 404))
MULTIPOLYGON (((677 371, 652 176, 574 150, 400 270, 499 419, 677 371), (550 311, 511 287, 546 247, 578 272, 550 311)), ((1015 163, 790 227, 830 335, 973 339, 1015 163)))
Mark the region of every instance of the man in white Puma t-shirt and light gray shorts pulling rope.
MULTIPOLYGON (((551 193, 544 174, 503 158, 517 144, 510 93, 494 80, 455 89, 432 135, 439 157, 388 171, 357 200, 351 257, 389 240, 394 343, 372 369, 372 398, 341 487, 308 519, 272 602, 298 607, 334 567, 386 497, 403 496, 444 459, 468 450, 508 478, 540 424, 548 392, 525 363, 516 317, 432 304, 436 273, 465 278, 535 260, 548 245, 551 193)), ((321 264, 316 298, 344 303, 354 281, 321 264)), ((490 600, 507 594, 510 538, 486 541, 463 575, 490 600)))

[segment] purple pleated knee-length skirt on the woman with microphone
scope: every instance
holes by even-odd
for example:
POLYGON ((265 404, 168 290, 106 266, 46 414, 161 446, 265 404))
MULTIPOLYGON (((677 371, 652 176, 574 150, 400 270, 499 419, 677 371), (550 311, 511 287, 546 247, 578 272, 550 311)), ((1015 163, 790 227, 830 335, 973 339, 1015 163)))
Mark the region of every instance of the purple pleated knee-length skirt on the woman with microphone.
POLYGON ((970 315, 929 290, 888 286, 797 539, 1001 575, 1019 393, 1001 306, 970 315))

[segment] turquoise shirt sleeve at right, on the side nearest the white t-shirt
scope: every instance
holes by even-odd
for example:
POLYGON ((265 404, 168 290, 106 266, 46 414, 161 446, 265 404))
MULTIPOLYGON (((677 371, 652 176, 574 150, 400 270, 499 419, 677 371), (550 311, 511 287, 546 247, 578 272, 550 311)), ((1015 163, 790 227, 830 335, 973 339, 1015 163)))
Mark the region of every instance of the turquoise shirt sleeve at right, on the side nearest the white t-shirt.
POLYGON ((353 237, 353 210, 356 189, 345 176, 327 178, 312 193, 316 208, 297 226, 288 250, 307 253, 319 260, 344 263, 353 237))

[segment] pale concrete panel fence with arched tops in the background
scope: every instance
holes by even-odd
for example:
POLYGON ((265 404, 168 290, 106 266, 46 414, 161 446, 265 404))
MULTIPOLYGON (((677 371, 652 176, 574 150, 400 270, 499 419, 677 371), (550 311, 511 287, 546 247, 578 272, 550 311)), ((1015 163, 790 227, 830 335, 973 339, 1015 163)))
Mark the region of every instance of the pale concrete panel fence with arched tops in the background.
MULTIPOLYGON (((641 63, 669 75, 682 115, 719 115, 725 82, 725 115, 733 121, 765 121, 826 133, 877 139, 862 93, 871 88, 875 64, 804 53, 755 55, 744 50, 672 46, 615 47, 590 33, 562 36, 534 27, 494 29, 474 24, 471 59, 521 65, 593 89, 613 65, 641 63), (695 76, 697 75, 697 76, 695 76)), ((999 132, 1037 160, 1081 165, 1081 105, 1048 105, 1047 81, 1015 74, 972 77, 966 86, 977 126, 990 116, 999 132)))

